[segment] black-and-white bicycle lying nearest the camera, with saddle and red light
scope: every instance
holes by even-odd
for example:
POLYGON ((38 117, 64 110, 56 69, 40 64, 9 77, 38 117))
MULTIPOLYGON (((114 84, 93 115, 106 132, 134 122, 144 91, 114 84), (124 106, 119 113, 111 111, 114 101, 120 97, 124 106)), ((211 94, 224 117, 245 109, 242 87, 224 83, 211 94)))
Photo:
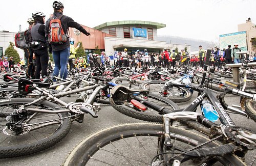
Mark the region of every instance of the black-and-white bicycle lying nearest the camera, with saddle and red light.
MULTIPOLYGON (((248 150, 256 148, 256 132, 235 126, 210 90, 196 86, 191 88, 203 92, 182 112, 178 110, 179 112, 173 113, 148 101, 137 104, 141 109, 144 106, 153 107, 164 114, 163 124, 122 124, 98 131, 82 140, 63 165, 212 165, 217 162, 224 165, 244 165, 241 158, 248 150), (222 124, 215 124, 193 112, 204 97, 215 105, 222 124), (178 128, 179 124, 175 121, 193 131, 178 128)), ((135 103, 134 100, 140 101, 137 95, 141 93, 147 92, 116 86, 111 92, 111 104, 119 106, 124 102, 135 103)), ((253 98, 248 94, 246 96, 253 98)))

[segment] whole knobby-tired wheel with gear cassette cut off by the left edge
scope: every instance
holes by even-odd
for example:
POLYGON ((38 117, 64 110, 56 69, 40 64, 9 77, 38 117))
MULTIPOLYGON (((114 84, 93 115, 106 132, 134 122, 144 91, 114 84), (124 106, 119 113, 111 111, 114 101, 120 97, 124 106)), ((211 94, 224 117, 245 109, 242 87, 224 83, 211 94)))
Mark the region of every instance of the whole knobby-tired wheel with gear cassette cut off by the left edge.
POLYGON ((0 100, 0 158, 17 157, 45 150, 57 144, 69 132, 71 118, 68 118, 67 113, 25 112, 18 116, 12 115, 14 109, 21 106, 49 110, 56 110, 56 107, 59 107, 48 101, 39 101, 31 106, 25 105, 32 101, 34 99, 29 98, 0 100), (22 125, 13 125, 17 124, 20 118, 25 118, 22 125))

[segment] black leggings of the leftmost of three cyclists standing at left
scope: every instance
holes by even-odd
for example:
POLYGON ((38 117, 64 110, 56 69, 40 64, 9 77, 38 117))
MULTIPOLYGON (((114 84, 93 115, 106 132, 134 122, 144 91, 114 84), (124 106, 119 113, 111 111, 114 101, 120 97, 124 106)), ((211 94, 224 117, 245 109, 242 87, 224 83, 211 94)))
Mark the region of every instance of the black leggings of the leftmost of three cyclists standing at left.
POLYGON ((33 64, 33 51, 31 48, 25 49, 25 58, 27 59, 27 62, 28 62, 26 77, 35 78, 35 66, 33 64))

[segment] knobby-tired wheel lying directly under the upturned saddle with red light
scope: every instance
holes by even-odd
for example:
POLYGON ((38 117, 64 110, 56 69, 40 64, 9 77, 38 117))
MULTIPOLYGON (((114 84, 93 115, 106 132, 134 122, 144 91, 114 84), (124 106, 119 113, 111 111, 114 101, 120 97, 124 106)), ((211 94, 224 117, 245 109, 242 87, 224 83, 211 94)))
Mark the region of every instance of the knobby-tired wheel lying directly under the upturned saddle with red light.
MULTIPOLYGON (((157 105, 161 107, 168 108, 169 110, 175 110, 179 109, 178 105, 174 103, 173 101, 170 101, 164 97, 155 95, 155 94, 148 94, 147 95, 147 100, 150 102, 157 103, 157 105)), ((145 112, 141 112, 140 110, 136 109, 132 104, 127 104, 127 105, 116 105, 111 101, 110 99, 110 104, 119 112, 124 115, 127 115, 129 117, 135 118, 135 119, 140 119, 143 121, 150 121, 150 122, 163 122, 163 116, 159 115, 159 113, 152 109, 152 108, 147 108, 145 112)))

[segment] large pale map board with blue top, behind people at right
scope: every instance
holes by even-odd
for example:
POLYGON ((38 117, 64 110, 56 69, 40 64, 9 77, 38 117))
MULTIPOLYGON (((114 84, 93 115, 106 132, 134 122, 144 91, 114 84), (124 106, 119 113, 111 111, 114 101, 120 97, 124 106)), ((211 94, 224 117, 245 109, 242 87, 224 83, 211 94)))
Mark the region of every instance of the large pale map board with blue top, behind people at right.
POLYGON ((238 44, 242 51, 247 51, 246 31, 220 35, 221 49, 228 48, 229 44, 231 48, 234 47, 234 44, 238 44))

